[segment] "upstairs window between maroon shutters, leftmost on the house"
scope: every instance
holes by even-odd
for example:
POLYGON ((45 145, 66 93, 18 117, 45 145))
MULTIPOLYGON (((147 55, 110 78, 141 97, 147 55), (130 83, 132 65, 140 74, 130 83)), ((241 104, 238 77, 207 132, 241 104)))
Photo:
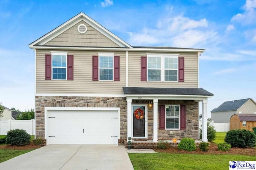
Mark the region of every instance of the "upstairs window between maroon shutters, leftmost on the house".
POLYGON ((52 53, 52 80, 67 80, 67 53, 52 53))

